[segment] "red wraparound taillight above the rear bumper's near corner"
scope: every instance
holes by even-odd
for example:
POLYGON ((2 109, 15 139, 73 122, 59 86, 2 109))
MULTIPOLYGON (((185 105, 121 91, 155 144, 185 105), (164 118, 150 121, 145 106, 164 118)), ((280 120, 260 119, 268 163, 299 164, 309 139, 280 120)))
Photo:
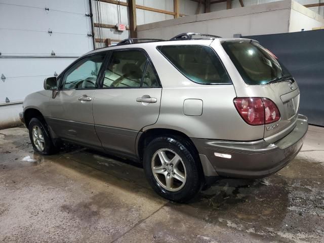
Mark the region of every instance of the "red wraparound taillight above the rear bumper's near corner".
POLYGON ((240 116, 252 126, 270 124, 280 119, 277 106, 267 98, 235 98, 234 104, 240 116))

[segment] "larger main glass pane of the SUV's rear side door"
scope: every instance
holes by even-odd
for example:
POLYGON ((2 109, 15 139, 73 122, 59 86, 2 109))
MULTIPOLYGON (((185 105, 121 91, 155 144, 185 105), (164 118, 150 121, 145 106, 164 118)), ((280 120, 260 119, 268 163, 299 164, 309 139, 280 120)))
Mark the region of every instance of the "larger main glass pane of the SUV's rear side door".
POLYGON ((141 51, 113 52, 105 71, 103 88, 140 87, 147 58, 141 51))

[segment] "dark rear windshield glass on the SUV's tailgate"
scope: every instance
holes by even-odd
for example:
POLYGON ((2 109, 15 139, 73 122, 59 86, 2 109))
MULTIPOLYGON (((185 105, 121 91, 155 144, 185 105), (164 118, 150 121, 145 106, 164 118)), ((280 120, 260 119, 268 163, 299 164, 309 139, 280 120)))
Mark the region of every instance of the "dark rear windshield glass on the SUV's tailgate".
POLYGON ((268 84, 291 76, 287 68, 258 43, 224 42, 222 46, 246 84, 268 84))

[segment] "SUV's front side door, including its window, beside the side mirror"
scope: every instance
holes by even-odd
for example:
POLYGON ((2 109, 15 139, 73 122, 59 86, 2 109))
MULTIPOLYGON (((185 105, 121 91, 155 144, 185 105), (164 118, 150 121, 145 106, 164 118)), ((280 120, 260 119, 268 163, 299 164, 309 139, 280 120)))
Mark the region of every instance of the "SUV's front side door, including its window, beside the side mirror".
POLYGON ((101 148, 95 132, 92 104, 105 53, 86 56, 64 74, 57 94, 49 101, 49 126, 60 138, 101 148))

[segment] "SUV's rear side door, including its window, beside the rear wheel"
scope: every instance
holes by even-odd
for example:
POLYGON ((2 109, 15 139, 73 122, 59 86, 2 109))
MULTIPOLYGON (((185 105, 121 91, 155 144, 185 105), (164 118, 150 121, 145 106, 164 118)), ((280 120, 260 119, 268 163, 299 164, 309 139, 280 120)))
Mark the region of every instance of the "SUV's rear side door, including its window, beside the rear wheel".
POLYGON ((95 94, 95 129, 105 150, 136 156, 139 131, 159 115, 161 85, 148 55, 141 49, 111 53, 95 94))

